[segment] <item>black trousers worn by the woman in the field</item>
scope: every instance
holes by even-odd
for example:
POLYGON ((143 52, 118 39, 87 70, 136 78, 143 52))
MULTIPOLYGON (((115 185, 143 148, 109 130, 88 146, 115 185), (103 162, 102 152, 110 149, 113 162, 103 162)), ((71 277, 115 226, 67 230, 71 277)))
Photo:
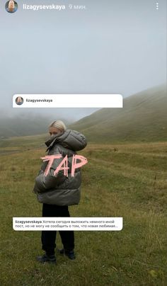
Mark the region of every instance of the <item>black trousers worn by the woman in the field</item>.
MULTIPOLYGON (((70 217, 68 206, 43 204, 42 217, 70 217)), ((64 249, 71 251, 74 249, 74 231, 59 231, 64 249)), ((47 255, 54 254, 56 247, 57 231, 42 231, 42 249, 47 255)))

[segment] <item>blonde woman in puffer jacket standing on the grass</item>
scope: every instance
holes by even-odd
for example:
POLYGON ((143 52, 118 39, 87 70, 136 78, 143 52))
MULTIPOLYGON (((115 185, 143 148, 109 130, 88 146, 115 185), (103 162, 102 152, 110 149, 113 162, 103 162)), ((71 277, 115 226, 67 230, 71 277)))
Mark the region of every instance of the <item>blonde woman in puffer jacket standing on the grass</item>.
MULTIPOLYGON (((52 168, 44 176, 47 161, 42 164, 40 173, 35 178, 33 192, 37 195, 38 202, 42 202, 42 217, 70 217, 69 205, 78 205, 81 195, 81 169, 76 168, 74 176, 70 176, 71 163, 76 151, 86 147, 86 137, 74 130, 67 130, 64 122, 56 120, 49 126, 50 139, 45 142, 48 155, 61 154, 62 158, 68 157, 69 176, 64 176, 63 170, 54 176, 54 171, 62 159, 54 159, 52 168)), ((71 260, 75 259, 74 231, 59 231, 64 248, 59 253, 65 254, 71 260)), ((41 263, 56 263, 54 248, 56 247, 57 231, 42 231, 43 256, 38 256, 41 263)))

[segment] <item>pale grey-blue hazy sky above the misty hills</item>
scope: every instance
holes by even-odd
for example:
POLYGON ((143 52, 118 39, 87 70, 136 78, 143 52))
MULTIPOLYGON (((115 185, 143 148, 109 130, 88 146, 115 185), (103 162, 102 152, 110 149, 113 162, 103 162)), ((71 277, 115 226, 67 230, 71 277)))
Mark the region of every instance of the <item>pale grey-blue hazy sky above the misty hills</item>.
MULTIPOLYGON (((15 93, 121 93, 166 81, 166 1, 18 0, 0 4, 0 96, 8 114, 15 93), (63 11, 23 10, 23 4, 66 5, 63 11), (86 10, 69 10, 69 4, 86 10)), ((32 109, 77 119, 93 110, 32 109)))

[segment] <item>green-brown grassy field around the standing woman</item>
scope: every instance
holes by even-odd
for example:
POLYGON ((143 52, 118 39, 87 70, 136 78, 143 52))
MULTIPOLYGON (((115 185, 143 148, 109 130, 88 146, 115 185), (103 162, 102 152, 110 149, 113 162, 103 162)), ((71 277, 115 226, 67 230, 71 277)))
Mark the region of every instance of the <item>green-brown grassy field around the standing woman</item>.
MULTIPOLYGON (((76 260, 35 261, 40 231, 13 231, 12 217, 41 217, 32 193, 45 147, 0 142, 1 285, 166 286, 167 143, 88 144, 73 217, 123 217, 122 231, 76 231, 76 260)), ((19 141, 20 140, 20 141, 19 141)), ((57 234, 57 247, 62 246, 57 234)))

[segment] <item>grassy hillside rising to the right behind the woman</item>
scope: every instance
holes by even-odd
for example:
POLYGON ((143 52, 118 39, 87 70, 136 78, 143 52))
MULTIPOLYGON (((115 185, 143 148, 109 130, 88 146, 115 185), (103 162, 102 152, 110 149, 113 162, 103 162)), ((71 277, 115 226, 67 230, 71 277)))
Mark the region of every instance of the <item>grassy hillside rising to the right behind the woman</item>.
POLYGON ((71 125, 93 142, 167 139, 166 85, 124 99, 123 108, 103 108, 71 125))

